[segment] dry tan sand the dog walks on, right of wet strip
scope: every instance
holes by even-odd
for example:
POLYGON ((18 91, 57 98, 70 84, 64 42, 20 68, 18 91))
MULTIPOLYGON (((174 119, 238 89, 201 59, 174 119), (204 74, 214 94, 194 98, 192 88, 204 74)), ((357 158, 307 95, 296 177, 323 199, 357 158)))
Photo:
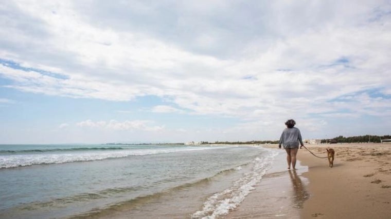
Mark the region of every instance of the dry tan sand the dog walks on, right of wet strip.
POLYGON ((298 159, 308 166, 309 199, 301 218, 391 218, 391 144, 307 145, 319 156, 335 150, 334 167, 306 149, 298 159))

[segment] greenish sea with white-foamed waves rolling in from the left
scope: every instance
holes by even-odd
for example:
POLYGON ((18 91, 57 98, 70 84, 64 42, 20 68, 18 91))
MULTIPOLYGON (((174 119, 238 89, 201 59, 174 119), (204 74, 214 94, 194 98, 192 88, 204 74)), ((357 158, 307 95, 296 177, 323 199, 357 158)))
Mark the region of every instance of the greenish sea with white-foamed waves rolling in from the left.
POLYGON ((0 218, 219 218, 280 152, 262 146, 0 145, 0 218))

